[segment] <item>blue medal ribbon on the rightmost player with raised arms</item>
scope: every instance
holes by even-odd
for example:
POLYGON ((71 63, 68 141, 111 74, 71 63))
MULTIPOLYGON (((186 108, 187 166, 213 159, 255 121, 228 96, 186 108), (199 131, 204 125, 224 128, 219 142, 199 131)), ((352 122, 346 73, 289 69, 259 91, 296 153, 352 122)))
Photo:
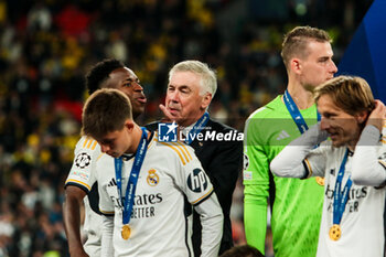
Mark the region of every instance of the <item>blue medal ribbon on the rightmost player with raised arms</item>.
POLYGON ((349 176, 347 182, 343 189, 343 192, 341 192, 341 185, 342 185, 342 180, 344 175, 344 168, 347 162, 347 157, 349 157, 349 149, 346 149, 346 152, 344 154, 343 161, 339 169, 339 173, 335 182, 333 224, 337 224, 337 225, 341 223, 344 210, 346 207, 346 203, 349 201, 349 192, 353 184, 353 181, 349 176))

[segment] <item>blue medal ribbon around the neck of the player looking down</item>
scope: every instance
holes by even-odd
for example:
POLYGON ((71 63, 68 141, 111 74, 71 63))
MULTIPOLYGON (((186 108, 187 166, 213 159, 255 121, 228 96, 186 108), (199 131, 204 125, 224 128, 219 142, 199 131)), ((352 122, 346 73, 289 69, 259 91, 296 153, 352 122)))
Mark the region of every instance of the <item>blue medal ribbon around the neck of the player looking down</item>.
POLYGON ((115 163, 115 169, 116 169, 116 180, 117 180, 117 188, 118 188, 118 195, 119 199, 121 200, 121 203, 124 205, 124 224, 128 224, 130 222, 131 217, 131 212, 132 212, 132 205, 135 201, 135 195, 136 195, 136 189, 137 189, 137 182, 138 182, 138 176, 139 172, 141 170, 146 152, 148 150, 148 138, 147 138, 147 131, 146 128, 142 129, 142 137, 139 142, 135 161, 131 168, 129 181, 127 183, 126 188, 126 197, 122 199, 122 158, 115 158, 114 163, 115 163))

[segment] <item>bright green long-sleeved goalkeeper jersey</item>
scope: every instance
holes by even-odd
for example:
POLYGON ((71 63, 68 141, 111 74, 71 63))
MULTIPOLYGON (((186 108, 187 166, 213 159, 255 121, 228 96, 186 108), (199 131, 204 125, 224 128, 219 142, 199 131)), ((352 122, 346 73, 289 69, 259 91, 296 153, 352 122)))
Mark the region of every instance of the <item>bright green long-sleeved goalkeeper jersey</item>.
MULTIPOLYGON (((300 110, 308 127, 318 121, 315 105, 300 110)), ((300 136, 281 96, 249 116, 244 138, 244 215, 247 243, 265 251, 268 196, 276 257, 317 254, 323 205, 323 180, 275 176, 271 160, 300 136)))

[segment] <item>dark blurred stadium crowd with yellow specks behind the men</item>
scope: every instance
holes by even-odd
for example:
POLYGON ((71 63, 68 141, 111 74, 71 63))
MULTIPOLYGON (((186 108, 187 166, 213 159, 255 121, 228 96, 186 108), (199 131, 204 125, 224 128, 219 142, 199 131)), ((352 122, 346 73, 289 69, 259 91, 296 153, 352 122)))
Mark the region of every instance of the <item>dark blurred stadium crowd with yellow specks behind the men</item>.
MULTIPOLYGON (((0 0, 0 257, 67 256, 63 184, 90 65, 116 57, 137 73, 149 100, 146 124, 161 117, 168 69, 206 62, 218 76, 212 117, 243 130, 287 85, 285 32, 328 30, 337 64, 372 2, 0 0)), ((235 244, 245 244, 240 182, 232 219, 235 244)))

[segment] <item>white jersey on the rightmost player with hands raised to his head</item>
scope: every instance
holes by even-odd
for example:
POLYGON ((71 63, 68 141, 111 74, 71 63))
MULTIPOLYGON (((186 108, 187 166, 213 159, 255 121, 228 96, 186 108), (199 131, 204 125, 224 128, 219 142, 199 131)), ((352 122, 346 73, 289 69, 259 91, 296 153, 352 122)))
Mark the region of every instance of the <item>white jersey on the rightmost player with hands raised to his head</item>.
MULTIPOLYGON (((384 130, 385 132, 385 130, 384 130)), ((386 163, 386 144, 379 141, 377 157, 380 163, 386 163)), ((333 225, 333 203, 336 176, 344 158, 346 147, 320 147, 315 152, 322 153, 318 159, 308 159, 312 175, 324 175, 323 215, 319 235, 318 257, 363 257, 383 256, 384 238, 384 205, 385 186, 374 188, 352 184, 349 200, 340 223, 341 237, 332 240, 329 236, 333 225), (321 164, 325 162, 325 164, 321 164), (320 167, 325 167, 322 171, 320 167)), ((341 191, 346 184, 352 171, 353 153, 349 152, 341 191)), ((385 170, 386 172, 386 170, 385 170)))

